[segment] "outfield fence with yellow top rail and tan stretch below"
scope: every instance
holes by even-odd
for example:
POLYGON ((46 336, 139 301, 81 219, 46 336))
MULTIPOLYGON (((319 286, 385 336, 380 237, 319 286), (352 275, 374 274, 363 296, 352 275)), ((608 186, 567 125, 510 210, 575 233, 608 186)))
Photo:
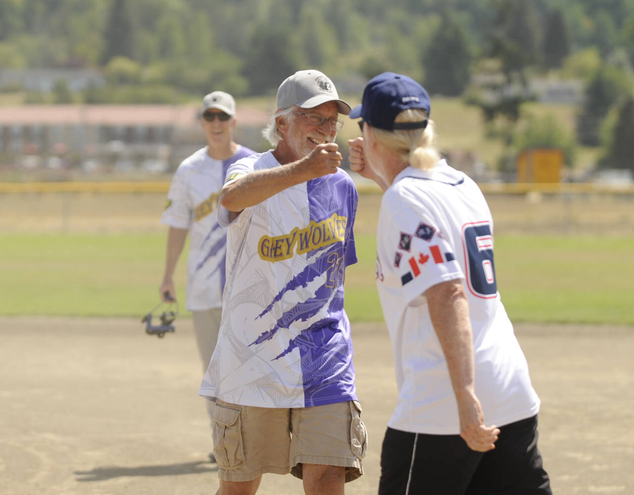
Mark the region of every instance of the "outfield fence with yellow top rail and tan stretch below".
MULTIPOLYGON (((358 181, 356 232, 376 234, 382 195, 358 181)), ((0 183, 0 232, 161 232, 169 182, 0 183)), ((634 235, 634 187, 482 183, 498 234, 634 235)))

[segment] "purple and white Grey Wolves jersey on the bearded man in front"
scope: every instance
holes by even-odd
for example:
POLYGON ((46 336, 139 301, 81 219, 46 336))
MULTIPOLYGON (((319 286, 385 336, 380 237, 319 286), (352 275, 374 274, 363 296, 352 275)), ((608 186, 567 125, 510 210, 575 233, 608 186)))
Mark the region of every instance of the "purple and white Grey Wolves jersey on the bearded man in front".
MULTIPOLYGON (((228 181, 281 166, 269 151, 228 181)), ((356 400, 344 270, 356 263, 357 192, 346 172, 289 187, 227 230, 227 281, 216 350, 200 395, 259 407, 356 400)), ((228 211, 219 207, 221 225, 228 211)))

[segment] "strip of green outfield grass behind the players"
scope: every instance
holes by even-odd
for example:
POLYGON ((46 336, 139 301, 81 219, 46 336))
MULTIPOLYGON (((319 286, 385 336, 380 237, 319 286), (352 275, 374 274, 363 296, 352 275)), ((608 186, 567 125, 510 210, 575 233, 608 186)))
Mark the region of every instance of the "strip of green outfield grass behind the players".
MULTIPOLYGON (((346 309, 353 321, 381 320, 375 240, 361 233, 356 244, 346 309)), ((141 317, 159 302, 164 251, 163 233, 0 234, 0 314, 141 317)), ((633 252, 634 237, 497 235, 502 301, 514 321, 634 326, 633 252)))

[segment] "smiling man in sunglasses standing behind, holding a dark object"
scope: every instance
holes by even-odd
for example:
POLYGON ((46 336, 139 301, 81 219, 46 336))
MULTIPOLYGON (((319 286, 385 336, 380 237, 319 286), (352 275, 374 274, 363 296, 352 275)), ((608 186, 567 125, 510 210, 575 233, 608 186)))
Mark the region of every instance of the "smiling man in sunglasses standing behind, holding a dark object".
MULTIPOLYGON (((187 309, 193 326, 203 369, 216 347, 223 302, 226 228, 218 225, 217 203, 228 167, 253 150, 233 141, 236 126, 235 100, 223 91, 203 98, 200 125, 207 146, 187 157, 176 169, 167 193, 161 222, 169 225, 162 300, 176 299, 174 268, 183 251, 188 232, 190 252, 187 265, 187 309)), ((214 403, 207 402, 210 418, 214 403)), ((210 454, 213 462, 213 454, 210 454)))

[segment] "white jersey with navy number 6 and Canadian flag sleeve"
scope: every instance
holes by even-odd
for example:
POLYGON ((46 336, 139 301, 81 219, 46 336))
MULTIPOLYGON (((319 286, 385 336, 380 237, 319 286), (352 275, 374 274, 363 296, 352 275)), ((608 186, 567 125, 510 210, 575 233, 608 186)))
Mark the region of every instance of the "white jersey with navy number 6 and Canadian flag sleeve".
POLYGON ((377 286, 394 352, 399 397, 388 425, 460 433, 444 353, 423 295, 462 279, 473 331, 475 393, 486 425, 537 414, 526 359, 500 301, 493 220, 479 187, 443 160, 404 169, 383 196, 377 228, 377 286))

